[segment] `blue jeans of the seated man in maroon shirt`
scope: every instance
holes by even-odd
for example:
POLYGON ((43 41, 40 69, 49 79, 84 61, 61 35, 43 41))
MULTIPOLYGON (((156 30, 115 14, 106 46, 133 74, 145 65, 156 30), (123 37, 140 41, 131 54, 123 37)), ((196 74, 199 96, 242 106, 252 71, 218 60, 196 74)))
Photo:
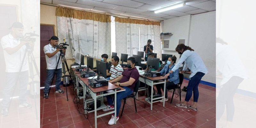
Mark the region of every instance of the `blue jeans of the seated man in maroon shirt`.
MULTIPOLYGON (((131 90, 128 87, 122 87, 122 88, 124 88, 125 91, 116 93, 116 116, 118 116, 119 110, 121 108, 121 100, 124 99, 125 97, 131 95, 133 92, 133 90, 131 90)), ((107 100, 108 100, 108 105, 113 105, 112 95, 107 95, 107 100)))

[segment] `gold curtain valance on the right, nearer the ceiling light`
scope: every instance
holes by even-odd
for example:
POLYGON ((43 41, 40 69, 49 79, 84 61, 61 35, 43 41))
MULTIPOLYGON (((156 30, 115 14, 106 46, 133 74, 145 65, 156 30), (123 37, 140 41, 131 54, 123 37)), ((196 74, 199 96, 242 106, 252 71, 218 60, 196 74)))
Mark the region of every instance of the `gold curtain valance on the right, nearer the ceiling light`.
POLYGON ((158 26, 160 26, 160 22, 128 19, 128 18, 121 18, 121 17, 117 17, 117 16, 115 17, 115 21, 120 22, 120 23, 145 24, 145 25, 158 25, 158 26))

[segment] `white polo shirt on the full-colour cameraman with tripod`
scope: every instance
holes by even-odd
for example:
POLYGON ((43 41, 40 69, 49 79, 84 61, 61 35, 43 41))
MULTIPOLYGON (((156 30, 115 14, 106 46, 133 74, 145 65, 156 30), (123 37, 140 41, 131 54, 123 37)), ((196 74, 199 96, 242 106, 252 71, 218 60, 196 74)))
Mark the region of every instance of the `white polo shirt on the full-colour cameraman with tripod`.
MULTIPOLYGON (((52 47, 51 44, 48 44, 48 45, 44 46, 44 54, 45 54, 45 59, 46 59, 46 64, 47 64, 47 68, 46 69, 56 69, 57 62, 58 62, 58 59, 60 57, 60 52, 57 52, 51 58, 49 58, 46 55, 46 53, 52 53, 52 52, 55 52, 55 51, 56 51, 56 48, 52 47)), ((62 68, 62 66, 61 66, 61 58, 60 58, 60 61, 58 63, 57 69, 59 69, 59 68, 62 68)))

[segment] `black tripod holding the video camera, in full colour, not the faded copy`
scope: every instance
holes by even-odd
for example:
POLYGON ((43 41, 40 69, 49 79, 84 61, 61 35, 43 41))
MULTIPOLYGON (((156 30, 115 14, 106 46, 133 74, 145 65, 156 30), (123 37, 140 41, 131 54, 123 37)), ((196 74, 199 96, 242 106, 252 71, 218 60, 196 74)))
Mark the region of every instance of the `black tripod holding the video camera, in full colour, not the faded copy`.
MULTIPOLYGON (((55 74, 56 74, 56 71, 57 71, 57 68, 58 68, 58 64, 59 64, 59 62, 60 62, 60 57, 61 57, 61 64, 62 64, 62 71, 63 71, 62 73, 64 74, 63 82, 64 82, 64 79, 65 79, 65 83, 63 83, 63 85, 65 84, 65 87, 66 87, 67 101, 68 101, 68 89, 67 89, 67 82, 66 82, 66 78, 65 78, 67 71, 66 71, 65 65, 66 65, 66 67, 67 67, 67 69, 68 69, 69 77, 71 77, 71 76, 70 76, 70 72, 69 72, 69 68, 68 68, 68 64, 67 64, 66 58, 65 58, 64 53, 63 53, 62 50, 60 50, 60 56, 59 56, 59 59, 58 59, 58 62, 57 62, 57 65, 56 65, 56 68, 55 68, 55 72, 54 72, 53 77, 54 77, 55 74)), ((53 83, 53 79, 52 79, 52 83, 53 83)), ((51 84, 51 85, 52 85, 52 84, 51 84)), ((50 93, 50 91, 51 91, 51 88, 52 88, 52 86, 50 86, 48 95, 49 95, 49 93, 50 93)))

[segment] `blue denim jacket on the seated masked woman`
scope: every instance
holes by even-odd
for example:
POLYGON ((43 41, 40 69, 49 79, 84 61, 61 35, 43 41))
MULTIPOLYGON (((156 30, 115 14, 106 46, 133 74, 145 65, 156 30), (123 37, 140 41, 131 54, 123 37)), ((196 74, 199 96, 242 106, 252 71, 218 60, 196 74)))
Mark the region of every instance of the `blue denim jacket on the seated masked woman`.
MULTIPOLYGON (((165 75, 167 69, 168 69, 168 64, 164 65, 164 68, 160 71, 161 75, 165 75)), ((171 68, 169 68, 170 72, 172 70, 172 68, 175 66, 175 64, 173 64, 171 66, 171 68)), ((173 73, 170 74, 170 79, 168 79, 170 82, 173 82, 174 84, 179 84, 180 83, 180 78, 179 78, 179 70, 175 70, 173 73)))

